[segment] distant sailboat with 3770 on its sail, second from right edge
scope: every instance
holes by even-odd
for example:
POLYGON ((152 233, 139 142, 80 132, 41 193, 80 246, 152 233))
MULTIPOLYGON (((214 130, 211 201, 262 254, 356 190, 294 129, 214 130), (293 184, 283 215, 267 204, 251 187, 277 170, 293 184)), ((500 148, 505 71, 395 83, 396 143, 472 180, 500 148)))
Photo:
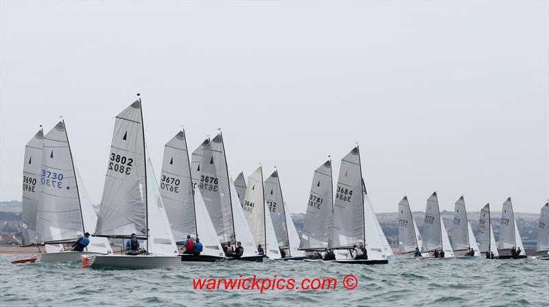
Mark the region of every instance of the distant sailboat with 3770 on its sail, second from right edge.
POLYGON ((511 197, 507 198, 502 207, 498 252, 500 253, 499 259, 526 258, 526 252, 524 251, 524 246, 522 245, 522 239, 520 238, 519 229, 517 228, 517 221, 515 220, 515 214, 513 212, 511 197), (520 249, 520 253, 518 255, 511 255, 511 250, 513 247, 520 249), (504 253, 502 253, 502 251, 504 251, 504 253))

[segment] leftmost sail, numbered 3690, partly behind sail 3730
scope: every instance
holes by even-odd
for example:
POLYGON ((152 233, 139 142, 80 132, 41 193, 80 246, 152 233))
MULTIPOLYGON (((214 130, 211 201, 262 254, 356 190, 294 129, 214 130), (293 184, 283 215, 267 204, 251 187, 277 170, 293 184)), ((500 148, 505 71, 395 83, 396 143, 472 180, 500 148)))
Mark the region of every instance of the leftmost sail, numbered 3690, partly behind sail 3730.
POLYGON ((23 209, 21 212, 23 245, 41 241, 36 232, 36 210, 40 201, 43 148, 44 135, 42 130, 38 130, 25 146, 25 159, 23 160, 23 209))

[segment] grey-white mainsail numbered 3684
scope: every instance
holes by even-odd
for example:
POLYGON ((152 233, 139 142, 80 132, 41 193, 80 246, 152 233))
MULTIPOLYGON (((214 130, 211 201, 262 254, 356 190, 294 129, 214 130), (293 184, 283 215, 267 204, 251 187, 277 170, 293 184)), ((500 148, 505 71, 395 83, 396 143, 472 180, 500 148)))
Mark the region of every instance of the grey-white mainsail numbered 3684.
POLYGON ((362 198, 360 152, 356 146, 341 160, 328 247, 350 248, 364 242, 362 198))

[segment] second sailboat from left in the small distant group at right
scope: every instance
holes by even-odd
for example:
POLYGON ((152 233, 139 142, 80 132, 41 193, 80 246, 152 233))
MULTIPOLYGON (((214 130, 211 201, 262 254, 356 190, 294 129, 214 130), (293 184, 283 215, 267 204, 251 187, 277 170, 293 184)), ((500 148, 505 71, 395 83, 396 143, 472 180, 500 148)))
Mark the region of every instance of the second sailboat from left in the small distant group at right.
POLYGON ((454 258, 454 251, 444 227, 441 212, 439 211, 439 198, 436 192, 428 198, 425 209, 425 225, 423 226, 423 253, 431 253, 435 250, 443 250, 444 258, 423 257, 419 259, 449 259, 454 258))

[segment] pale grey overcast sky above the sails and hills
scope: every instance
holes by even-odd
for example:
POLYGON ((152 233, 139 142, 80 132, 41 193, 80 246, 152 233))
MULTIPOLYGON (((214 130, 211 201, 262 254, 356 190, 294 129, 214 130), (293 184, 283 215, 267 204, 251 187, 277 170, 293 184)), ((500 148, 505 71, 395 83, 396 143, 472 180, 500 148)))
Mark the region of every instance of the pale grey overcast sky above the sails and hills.
POLYGON ((291 212, 359 142, 376 212, 549 198, 548 1, 1 1, 0 200, 63 115, 100 203, 114 117, 141 93, 155 172, 222 128, 233 177, 278 166, 291 212))

